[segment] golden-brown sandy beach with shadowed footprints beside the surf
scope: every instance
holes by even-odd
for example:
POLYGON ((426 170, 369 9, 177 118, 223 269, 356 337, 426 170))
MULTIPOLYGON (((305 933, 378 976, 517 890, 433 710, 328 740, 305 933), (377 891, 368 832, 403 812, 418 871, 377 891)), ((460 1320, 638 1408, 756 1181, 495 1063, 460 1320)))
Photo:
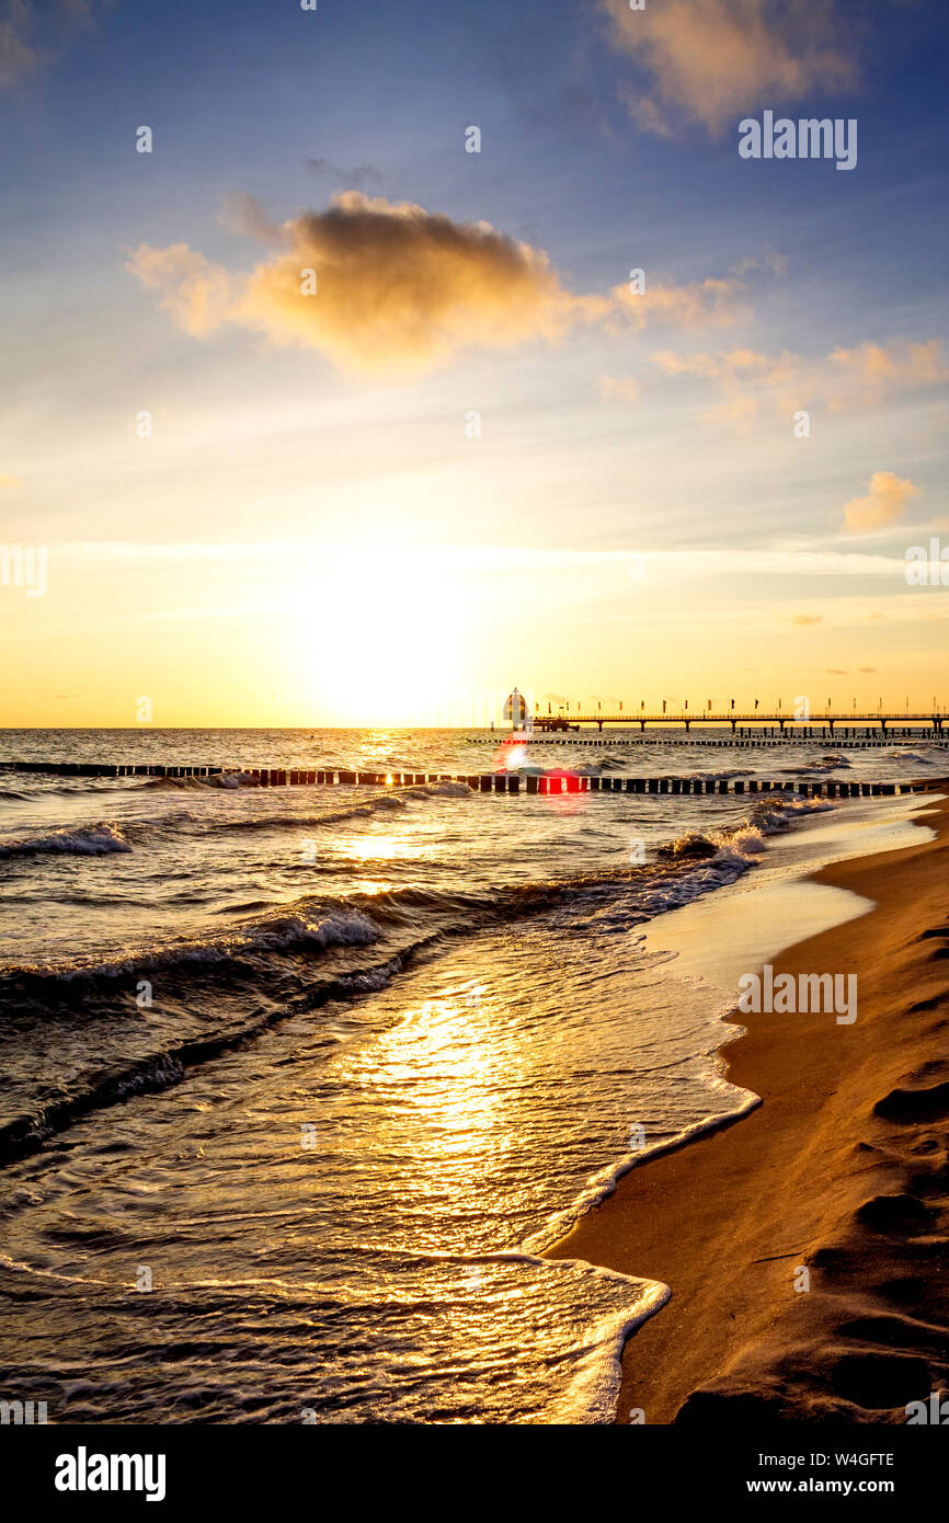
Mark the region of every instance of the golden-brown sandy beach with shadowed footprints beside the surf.
POLYGON ((919 818, 935 839, 813 874, 876 908, 774 958, 856 973, 858 1019, 731 1017, 728 1078, 763 1104, 635 1167, 550 1250, 672 1288, 626 1343, 618 1422, 905 1424, 946 1386, 949 804, 919 818))

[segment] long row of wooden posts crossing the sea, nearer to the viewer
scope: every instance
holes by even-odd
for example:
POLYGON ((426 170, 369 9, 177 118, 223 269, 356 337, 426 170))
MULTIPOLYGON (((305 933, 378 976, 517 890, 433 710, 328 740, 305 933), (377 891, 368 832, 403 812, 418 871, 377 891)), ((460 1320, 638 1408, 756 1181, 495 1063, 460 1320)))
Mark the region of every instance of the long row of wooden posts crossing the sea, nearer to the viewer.
POLYGON ((844 778, 690 778, 690 777, 585 777, 562 772, 554 777, 516 772, 359 772, 334 768, 221 768, 160 766, 157 763, 108 765, 96 762, 2 762, 14 772, 52 772, 59 777, 171 777, 210 778, 235 775, 259 787, 341 786, 341 787, 417 787, 430 783, 466 783, 480 793, 777 793, 797 792, 804 798, 867 798, 896 793, 925 793, 941 786, 937 780, 914 783, 855 783, 844 778))

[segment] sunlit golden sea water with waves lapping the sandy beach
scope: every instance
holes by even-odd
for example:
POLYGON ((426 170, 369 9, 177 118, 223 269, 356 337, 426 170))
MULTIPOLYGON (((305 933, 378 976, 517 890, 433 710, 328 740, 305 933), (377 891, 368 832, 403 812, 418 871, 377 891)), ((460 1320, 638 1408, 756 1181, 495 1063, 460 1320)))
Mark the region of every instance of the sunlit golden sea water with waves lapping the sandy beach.
MULTIPOLYGON (((754 1104, 721 999, 644 928, 853 806, 2 771, 510 762, 486 739, 0 733, 5 1398, 55 1422, 611 1419, 666 1287, 538 1253, 643 1153, 754 1104)), ((519 760, 946 771, 922 742, 661 734, 519 760)))

